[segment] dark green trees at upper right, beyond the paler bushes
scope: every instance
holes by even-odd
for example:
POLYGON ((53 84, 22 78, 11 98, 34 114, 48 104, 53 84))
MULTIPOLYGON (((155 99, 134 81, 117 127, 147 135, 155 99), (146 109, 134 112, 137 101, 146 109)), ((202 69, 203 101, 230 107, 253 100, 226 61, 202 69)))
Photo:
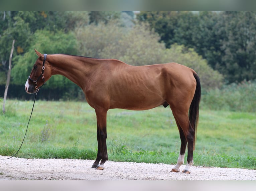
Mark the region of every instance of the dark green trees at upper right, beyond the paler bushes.
POLYGON ((177 43, 203 56, 228 83, 253 80, 255 74, 255 11, 141 11, 169 48, 177 43))

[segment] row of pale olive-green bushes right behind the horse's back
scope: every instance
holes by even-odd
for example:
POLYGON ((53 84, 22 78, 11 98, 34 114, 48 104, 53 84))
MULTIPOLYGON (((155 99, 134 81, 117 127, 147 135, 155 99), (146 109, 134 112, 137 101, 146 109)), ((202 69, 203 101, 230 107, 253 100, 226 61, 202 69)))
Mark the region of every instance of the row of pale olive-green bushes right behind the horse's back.
POLYGON ((166 49, 149 24, 125 28, 115 22, 99 23, 77 29, 76 36, 84 56, 113 58, 135 66, 177 62, 198 72, 205 90, 220 87, 223 82, 223 76, 208 66, 194 49, 177 44, 166 49))

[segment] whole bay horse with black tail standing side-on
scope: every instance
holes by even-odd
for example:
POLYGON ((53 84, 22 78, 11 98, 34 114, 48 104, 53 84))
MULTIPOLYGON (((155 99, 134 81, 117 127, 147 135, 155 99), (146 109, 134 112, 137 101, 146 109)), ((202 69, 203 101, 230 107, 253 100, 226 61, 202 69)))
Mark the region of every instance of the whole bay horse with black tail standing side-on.
POLYGON ((63 75, 84 92, 97 117, 98 152, 92 168, 103 170, 108 160, 107 111, 113 108, 146 110, 170 106, 180 140, 180 153, 172 172, 190 173, 199 119, 201 85, 197 73, 177 63, 131 66, 115 59, 96 59, 67 54, 41 54, 26 81, 25 91, 36 93, 52 75, 63 75), (39 87, 39 88, 38 88, 39 87))

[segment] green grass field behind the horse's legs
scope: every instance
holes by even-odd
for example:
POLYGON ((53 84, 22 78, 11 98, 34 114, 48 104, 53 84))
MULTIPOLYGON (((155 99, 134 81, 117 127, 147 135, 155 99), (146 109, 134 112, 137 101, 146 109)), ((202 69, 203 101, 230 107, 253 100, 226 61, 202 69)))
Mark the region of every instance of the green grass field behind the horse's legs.
MULTIPOLYGON (((0 113, 0 155, 18 149, 32 101, 7 100, 0 113)), ((194 165, 256 168, 256 114, 200 110, 194 165)), ((107 114, 112 161, 175 164, 180 139, 169 107, 146 111, 112 109, 107 114)), ((18 157, 95 159, 96 115, 85 102, 36 101, 18 157)))

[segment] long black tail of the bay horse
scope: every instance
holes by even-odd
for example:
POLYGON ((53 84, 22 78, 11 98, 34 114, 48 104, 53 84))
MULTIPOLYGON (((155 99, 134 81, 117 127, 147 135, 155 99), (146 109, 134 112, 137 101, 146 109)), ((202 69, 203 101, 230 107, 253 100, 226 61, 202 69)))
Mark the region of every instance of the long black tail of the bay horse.
POLYGON ((197 75, 197 73, 194 73, 194 77, 196 79, 197 86, 196 86, 196 91, 195 91, 193 100, 189 107, 188 117, 189 117, 190 124, 194 129, 194 150, 195 150, 196 131, 197 131, 197 125, 199 120, 199 103, 201 99, 201 84, 200 84, 200 78, 197 75))

